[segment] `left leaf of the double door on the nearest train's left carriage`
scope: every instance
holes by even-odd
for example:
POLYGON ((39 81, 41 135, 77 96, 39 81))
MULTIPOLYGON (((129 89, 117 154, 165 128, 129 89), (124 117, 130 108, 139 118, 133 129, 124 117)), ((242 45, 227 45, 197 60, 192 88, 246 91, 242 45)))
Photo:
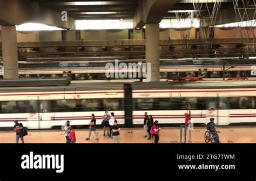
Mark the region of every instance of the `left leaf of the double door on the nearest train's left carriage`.
POLYGON ((38 114, 38 96, 28 96, 29 104, 28 104, 28 113, 27 119, 28 124, 27 127, 29 129, 39 129, 39 114, 38 114))

